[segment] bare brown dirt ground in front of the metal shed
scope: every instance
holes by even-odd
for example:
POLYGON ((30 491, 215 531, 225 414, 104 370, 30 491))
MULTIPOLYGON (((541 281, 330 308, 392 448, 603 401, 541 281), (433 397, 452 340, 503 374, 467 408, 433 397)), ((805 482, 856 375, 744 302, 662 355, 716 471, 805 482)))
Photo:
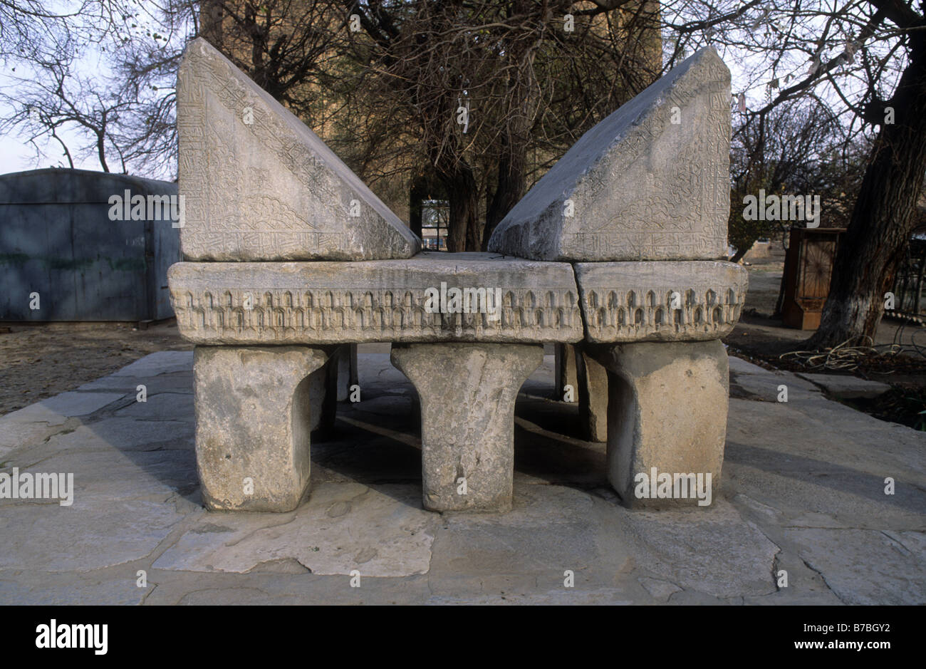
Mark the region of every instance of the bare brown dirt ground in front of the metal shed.
POLYGON ((0 326, 0 415, 73 390, 149 353, 193 347, 181 339, 172 319, 146 330, 131 323, 0 326))

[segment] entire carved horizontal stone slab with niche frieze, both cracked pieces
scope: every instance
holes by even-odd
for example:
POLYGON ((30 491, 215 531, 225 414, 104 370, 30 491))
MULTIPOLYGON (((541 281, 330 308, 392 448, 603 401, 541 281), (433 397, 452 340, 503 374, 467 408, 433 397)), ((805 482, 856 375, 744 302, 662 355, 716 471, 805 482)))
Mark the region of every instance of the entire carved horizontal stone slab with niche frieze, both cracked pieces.
POLYGON ((168 279, 184 338, 239 346, 707 341, 732 331, 748 281, 713 260, 582 262, 573 273, 486 253, 181 262, 168 279))

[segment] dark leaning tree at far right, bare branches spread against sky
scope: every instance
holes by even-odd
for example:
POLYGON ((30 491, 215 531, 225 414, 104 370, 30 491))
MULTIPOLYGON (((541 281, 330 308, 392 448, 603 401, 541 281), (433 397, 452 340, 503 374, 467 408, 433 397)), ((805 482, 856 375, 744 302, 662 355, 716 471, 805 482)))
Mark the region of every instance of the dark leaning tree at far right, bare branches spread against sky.
POLYGON ((675 26, 694 44, 712 42, 745 57, 745 87, 767 94, 744 114, 757 133, 757 154, 766 145, 772 110, 796 98, 830 106, 847 130, 843 138, 855 141, 861 133, 870 140, 820 329, 803 346, 832 347, 872 336, 926 174, 923 3, 763 0, 733 8, 711 0, 664 3, 664 13, 667 6, 687 16, 697 9, 707 17, 700 25, 682 20, 675 26))

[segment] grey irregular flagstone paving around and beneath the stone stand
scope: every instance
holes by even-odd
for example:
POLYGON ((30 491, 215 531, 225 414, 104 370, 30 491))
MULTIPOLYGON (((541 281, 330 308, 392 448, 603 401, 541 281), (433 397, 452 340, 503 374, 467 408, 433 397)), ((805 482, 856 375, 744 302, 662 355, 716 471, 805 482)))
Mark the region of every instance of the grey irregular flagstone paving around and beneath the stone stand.
POLYGON ((631 511, 605 445, 548 399, 548 355, 519 396, 512 511, 436 514, 421 508, 414 388, 365 346, 361 401, 313 440, 313 494, 291 513, 202 508, 189 351, 0 418, 41 427, 0 472, 74 474, 69 507, 0 499, 0 604, 926 603, 926 435, 795 374, 731 359, 720 494, 631 511))

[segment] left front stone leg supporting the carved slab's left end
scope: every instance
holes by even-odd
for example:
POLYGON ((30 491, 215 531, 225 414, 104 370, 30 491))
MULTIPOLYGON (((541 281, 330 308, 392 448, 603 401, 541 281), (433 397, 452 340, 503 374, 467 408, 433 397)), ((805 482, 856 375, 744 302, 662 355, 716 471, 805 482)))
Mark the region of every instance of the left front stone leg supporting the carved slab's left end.
POLYGON ((196 469, 208 509, 292 511, 309 484, 311 347, 195 347, 196 469))

